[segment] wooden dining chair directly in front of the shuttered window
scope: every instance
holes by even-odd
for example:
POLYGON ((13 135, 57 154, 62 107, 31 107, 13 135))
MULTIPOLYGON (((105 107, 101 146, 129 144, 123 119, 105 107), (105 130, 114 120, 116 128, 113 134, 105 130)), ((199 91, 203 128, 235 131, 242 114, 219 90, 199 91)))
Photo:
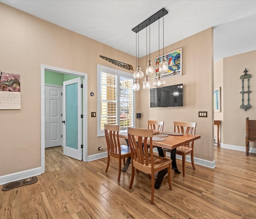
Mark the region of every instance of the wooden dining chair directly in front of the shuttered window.
POLYGON ((120 145, 119 141, 119 125, 104 124, 105 137, 108 146, 108 164, 106 172, 108 172, 108 166, 110 162, 110 156, 118 158, 118 179, 120 181, 121 176, 121 161, 125 163, 125 158, 131 156, 130 148, 127 145, 120 145))

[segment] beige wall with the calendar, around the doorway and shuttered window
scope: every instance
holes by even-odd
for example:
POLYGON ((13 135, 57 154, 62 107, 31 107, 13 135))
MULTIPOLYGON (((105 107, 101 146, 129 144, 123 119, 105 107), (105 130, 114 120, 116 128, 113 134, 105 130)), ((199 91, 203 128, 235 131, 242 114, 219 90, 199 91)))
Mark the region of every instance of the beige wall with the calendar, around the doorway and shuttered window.
POLYGON ((135 57, 2 3, 0 20, 0 70, 21 81, 21 110, 0 110, 0 176, 41 166, 41 64, 88 74, 88 155, 97 154, 106 144, 90 117, 97 112, 97 64, 129 72, 100 55, 133 66, 135 57))

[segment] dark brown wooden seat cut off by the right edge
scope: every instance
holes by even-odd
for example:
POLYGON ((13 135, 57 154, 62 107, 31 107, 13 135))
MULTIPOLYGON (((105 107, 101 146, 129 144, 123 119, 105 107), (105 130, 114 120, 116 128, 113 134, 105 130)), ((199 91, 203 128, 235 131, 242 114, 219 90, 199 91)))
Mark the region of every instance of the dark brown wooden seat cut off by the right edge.
POLYGON ((256 142, 256 120, 250 120, 249 117, 246 118, 246 155, 249 155, 250 142, 256 142))

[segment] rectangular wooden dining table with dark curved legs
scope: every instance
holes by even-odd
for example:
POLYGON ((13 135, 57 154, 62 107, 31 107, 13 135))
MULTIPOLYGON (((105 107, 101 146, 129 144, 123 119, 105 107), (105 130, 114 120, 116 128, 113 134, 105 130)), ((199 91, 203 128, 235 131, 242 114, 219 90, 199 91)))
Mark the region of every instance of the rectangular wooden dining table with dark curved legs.
MULTIPOLYGON (((162 137, 165 139, 164 141, 154 141, 154 136, 152 139, 152 145, 157 148, 159 156, 164 156, 163 148, 171 150, 170 158, 172 159, 172 169, 176 173, 179 173, 179 174, 181 172, 178 170, 178 167, 176 164, 176 148, 178 146, 182 146, 184 144, 187 144, 189 142, 192 142, 194 140, 201 138, 200 135, 183 134, 183 135, 168 135, 166 137, 162 137)), ((129 145, 127 132, 119 132, 119 137, 124 138, 127 142, 127 145, 129 145)), ((126 169, 128 168, 128 165, 129 165, 128 163, 130 164, 130 161, 126 162, 126 169)), ((123 171, 125 171, 125 170, 123 170, 123 171)), ((167 169, 164 169, 164 170, 158 172, 156 182, 155 182, 156 189, 160 188, 162 180, 164 179, 164 176, 167 172, 168 172, 167 169)))

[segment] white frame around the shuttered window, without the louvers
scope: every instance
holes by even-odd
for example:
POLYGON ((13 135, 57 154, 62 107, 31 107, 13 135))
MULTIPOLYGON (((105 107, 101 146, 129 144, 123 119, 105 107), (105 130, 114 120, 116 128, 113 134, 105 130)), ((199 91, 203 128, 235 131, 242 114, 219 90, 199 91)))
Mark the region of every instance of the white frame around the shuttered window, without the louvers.
MULTIPOLYGON (((101 84, 100 84, 100 73, 102 72, 102 70, 104 70, 105 73, 109 73, 109 74, 114 74, 114 75, 117 75, 118 76, 118 93, 120 93, 120 77, 127 77, 127 78, 130 78, 130 79, 134 79, 133 78, 133 75, 131 73, 127 73, 127 72, 124 72, 124 71, 120 71, 120 70, 117 70, 117 69, 112 69, 110 67, 106 67, 104 65, 97 65, 97 136, 98 137, 102 137, 102 136, 105 136, 104 134, 104 130, 100 130, 100 127, 101 127, 101 109, 100 109, 100 106, 101 106, 101 101, 100 101, 100 97, 101 97, 101 93, 100 93, 100 89, 101 89, 101 84)), ((118 96, 120 98, 120 96, 118 96)), ((135 108, 136 108, 136 101, 135 101, 135 91, 133 91, 133 126, 131 127, 135 127, 135 108)), ((120 107, 120 99, 118 100, 119 102, 119 105, 118 105, 118 109, 120 107)), ((119 121, 120 122, 120 121, 119 121)), ((125 129, 120 129, 120 130, 126 130, 125 129)))

